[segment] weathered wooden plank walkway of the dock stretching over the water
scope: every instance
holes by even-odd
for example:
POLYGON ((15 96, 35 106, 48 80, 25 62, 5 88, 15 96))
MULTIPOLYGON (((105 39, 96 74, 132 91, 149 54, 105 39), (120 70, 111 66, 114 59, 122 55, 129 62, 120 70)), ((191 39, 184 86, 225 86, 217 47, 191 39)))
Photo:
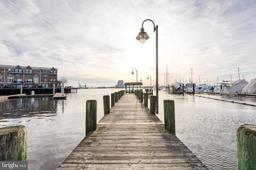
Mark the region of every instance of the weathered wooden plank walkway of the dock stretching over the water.
POLYGON ((125 94, 56 170, 66 169, 208 168, 134 94, 125 94))

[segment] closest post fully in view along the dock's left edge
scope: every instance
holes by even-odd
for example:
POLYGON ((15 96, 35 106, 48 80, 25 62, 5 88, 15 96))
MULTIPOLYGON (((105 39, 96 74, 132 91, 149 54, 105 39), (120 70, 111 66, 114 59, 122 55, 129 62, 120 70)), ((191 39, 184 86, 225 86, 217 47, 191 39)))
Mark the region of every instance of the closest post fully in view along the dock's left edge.
POLYGON ((85 123, 85 135, 90 131, 96 130, 97 124, 97 100, 86 101, 86 123, 85 123))

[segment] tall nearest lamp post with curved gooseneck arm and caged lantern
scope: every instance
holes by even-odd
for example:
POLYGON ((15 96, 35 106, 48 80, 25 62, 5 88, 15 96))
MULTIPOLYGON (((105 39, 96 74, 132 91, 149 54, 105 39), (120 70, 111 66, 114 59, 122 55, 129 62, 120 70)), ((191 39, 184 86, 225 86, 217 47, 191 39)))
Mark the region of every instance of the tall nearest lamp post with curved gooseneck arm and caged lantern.
POLYGON ((143 28, 143 23, 145 21, 151 21, 154 25, 154 32, 156 31, 156 114, 158 114, 158 25, 155 26, 154 21, 149 19, 142 22, 140 33, 136 37, 136 39, 139 40, 141 43, 145 43, 146 40, 149 39, 148 34, 144 31, 143 28))

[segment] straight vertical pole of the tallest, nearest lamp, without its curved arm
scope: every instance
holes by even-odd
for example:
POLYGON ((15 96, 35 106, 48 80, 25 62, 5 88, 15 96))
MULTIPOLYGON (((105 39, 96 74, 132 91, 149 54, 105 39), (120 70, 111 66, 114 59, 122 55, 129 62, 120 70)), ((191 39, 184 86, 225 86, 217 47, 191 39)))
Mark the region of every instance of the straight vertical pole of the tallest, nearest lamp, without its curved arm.
POLYGON ((156 114, 158 114, 158 25, 156 25, 156 114))

